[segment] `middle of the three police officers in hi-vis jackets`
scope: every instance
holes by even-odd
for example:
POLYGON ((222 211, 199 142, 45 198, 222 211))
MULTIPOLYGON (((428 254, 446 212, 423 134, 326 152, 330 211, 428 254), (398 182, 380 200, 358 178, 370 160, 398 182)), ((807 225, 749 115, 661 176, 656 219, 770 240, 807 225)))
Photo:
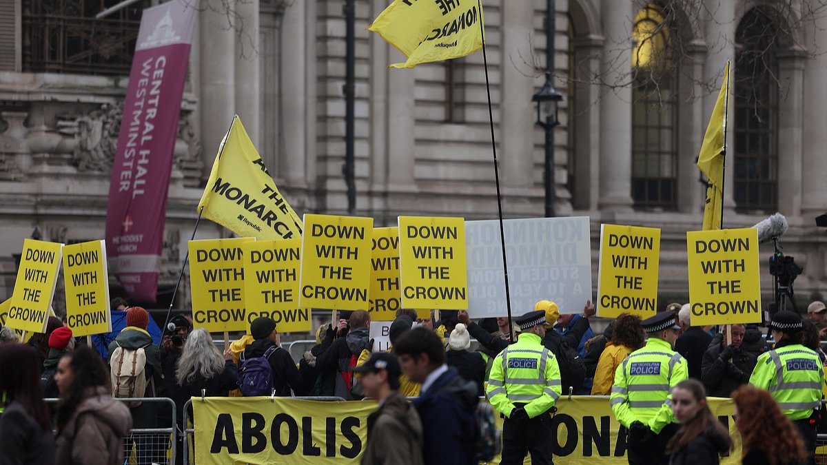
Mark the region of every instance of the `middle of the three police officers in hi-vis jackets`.
POLYGON ((667 464, 666 446, 677 430, 672 387, 687 377, 686 360, 672 350, 681 327, 673 312, 644 319, 641 326, 648 341, 614 372, 609 405, 619 424, 629 430, 629 464, 667 464))

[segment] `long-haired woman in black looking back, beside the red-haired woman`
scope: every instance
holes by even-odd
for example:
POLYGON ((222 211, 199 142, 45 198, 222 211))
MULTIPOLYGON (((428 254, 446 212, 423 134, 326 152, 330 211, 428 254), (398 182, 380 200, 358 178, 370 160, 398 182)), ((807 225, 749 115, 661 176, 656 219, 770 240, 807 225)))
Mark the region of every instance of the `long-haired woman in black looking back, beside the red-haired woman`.
POLYGON ((732 439, 710 406, 700 381, 681 381, 672 389, 672 413, 681 429, 667 443, 670 465, 717 465, 732 450, 732 439))

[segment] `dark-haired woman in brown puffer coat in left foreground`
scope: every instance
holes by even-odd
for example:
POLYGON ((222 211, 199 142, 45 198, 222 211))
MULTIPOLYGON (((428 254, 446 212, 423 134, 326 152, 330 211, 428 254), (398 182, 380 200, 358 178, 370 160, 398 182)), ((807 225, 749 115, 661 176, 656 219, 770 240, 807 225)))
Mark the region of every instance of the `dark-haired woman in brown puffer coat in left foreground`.
POLYGON ((132 417, 126 405, 112 399, 109 372, 98 352, 79 348, 57 364, 56 465, 123 463, 123 438, 132 417))

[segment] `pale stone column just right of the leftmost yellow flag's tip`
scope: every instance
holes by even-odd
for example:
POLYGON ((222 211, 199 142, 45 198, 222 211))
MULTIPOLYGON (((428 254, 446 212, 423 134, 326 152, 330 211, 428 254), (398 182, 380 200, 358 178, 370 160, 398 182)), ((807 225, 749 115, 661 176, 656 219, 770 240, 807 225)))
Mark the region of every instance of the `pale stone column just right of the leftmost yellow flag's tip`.
POLYGON ((259 39, 259 0, 235 3, 237 29, 235 56, 236 113, 241 117, 253 145, 261 137, 261 41, 259 39))

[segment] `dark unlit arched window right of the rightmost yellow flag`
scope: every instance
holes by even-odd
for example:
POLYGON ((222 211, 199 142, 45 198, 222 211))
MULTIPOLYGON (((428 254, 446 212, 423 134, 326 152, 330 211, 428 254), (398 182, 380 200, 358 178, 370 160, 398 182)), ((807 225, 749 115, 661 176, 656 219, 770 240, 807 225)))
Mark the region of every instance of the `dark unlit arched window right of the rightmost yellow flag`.
POLYGON ((734 199, 742 211, 775 211, 778 173, 777 30, 760 8, 735 31, 734 199))

